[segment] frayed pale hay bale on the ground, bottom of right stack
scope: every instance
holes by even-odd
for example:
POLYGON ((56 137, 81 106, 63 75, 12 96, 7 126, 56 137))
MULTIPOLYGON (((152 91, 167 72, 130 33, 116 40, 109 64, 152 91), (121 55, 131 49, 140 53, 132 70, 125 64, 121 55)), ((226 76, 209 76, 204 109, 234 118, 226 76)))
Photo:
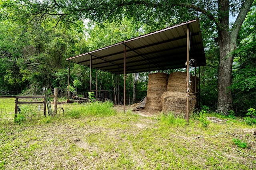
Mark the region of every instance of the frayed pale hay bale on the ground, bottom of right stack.
MULTIPOLYGON (((173 112, 174 115, 186 115, 186 93, 167 91, 162 94, 162 111, 173 112)), ((188 112, 194 111, 196 106, 196 96, 188 97, 188 112)))

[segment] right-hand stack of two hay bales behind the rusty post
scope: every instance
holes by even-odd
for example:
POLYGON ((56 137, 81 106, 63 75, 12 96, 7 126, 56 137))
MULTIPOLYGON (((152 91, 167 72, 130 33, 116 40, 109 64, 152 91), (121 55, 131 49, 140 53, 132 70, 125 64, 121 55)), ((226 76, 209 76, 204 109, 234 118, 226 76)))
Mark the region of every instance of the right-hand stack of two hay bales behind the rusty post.
MULTIPOLYGON (((173 72, 169 75, 167 92, 161 96, 162 111, 172 111, 175 115, 186 113, 186 91, 187 91, 187 73, 173 72)), ((195 77, 190 74, 190 93, 195 91, 195 77)), ((189 112, 196 106, 196 96, 189 96, 189 112)))

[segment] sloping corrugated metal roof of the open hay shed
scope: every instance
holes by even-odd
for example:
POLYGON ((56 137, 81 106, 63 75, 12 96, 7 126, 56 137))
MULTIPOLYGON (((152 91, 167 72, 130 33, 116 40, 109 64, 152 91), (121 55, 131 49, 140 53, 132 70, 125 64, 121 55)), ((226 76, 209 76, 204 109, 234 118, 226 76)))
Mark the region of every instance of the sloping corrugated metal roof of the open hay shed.
POLYGON ((204 66, 206 59, 198 19, 71 57, 67 61, 90 67, 92 55, 92 68, 124 74, 126 46, 126 73, 184 68, 187 27, 191 32, 190 59, 195 59, 197 66, 204 66))

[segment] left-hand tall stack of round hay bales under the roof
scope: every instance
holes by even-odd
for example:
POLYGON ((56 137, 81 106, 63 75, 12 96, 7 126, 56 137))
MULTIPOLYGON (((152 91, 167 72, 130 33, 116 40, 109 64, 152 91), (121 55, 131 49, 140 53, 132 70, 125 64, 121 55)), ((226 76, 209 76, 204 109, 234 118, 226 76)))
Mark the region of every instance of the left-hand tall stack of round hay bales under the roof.
POLYGON ((168 74, 154 73, 148 75, 148 91, 145 109, 161 111, 161 96, 166 92, 168 74))

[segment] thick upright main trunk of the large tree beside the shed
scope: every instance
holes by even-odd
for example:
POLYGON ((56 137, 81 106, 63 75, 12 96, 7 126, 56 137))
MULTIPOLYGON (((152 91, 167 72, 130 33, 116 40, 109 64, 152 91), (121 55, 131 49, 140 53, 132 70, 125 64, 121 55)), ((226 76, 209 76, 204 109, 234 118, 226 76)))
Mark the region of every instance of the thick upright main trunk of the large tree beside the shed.
POLYGON ((218 18, 220 26, 218 29, 218 45, 220 48, 220 61, 218 69, 218 104, 217 112, 228 114, 232 109, 231 73, 233 64, 232 51, 234 45, 231 43, 229 32, 229 1, 218 0, 218 18))

